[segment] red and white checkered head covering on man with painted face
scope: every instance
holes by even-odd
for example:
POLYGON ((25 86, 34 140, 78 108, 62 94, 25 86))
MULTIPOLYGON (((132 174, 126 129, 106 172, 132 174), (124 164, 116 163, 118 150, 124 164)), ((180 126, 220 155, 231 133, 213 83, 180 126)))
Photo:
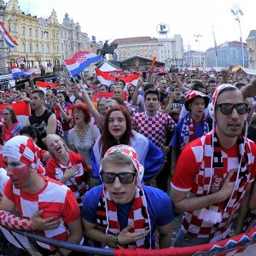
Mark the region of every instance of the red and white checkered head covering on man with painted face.
POLYGON ((13 157, 34 169, 39 166, 39 154, 40 148, 26 136, 15 136, 3 146, 3 156, 13 157))

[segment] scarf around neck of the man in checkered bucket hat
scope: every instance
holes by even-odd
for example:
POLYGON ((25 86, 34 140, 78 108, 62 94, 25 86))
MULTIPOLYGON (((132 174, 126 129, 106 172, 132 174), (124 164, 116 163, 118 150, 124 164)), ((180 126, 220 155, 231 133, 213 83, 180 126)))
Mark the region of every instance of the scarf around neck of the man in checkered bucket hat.
MULTIPOLYGON (((204 133, 202 135, 207 134, 209 132, 209 125, 207 121, 207 116, 203 114, 203 123, 204 123, 204 133)), ((183 119, 183 126, 181 129, 181 138, 183 143, 180 145, 181 151, 195 139, 195 127, 192 119, 191 113, 188 113, 183 119)))

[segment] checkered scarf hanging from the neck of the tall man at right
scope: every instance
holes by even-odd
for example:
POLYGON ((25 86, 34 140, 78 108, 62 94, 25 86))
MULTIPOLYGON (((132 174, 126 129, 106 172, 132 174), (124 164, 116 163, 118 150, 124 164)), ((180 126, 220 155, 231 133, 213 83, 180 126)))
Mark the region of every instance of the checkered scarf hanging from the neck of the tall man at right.
MULTIPOLYGON (((236 172, 236 184, 230 195, 230 199, 210 207, 201 209, 199 214, 200 219, 210 222, 212 224, 217 224, 222 221, 223 214, 231 214, 234 206, 241 203, 241 195, 247 186, 247 164, 251 161, 248 160, 248 154, 250 153, 250 145, 246 142, 246 139, 240 134, 236 141, 239 148, 238 162, 239 167, 236 172)), ((220 144, 218 142, 218 136, 216 134, 216 129, 212 129, 211 133, 208 133, 205 137, 202 137, 202 144, 204 147, 204 152, 206 152, 206 147, 209 151, 212 150, 212 160, 207 161, 206 155, 204 155, 202 167, 204 171, 210 169, 210 178, 206 174, 203 174, 203 195, 208 195, 210 193, 212 185, 212 177, 214 176, 215 168, 223 168, 223 158, 224 155, 221 151, 220 144), (212 136, 213 136, 213 148, 212 148, 212 136)), ((208 153, 209 154, 209 153, 208 153)))

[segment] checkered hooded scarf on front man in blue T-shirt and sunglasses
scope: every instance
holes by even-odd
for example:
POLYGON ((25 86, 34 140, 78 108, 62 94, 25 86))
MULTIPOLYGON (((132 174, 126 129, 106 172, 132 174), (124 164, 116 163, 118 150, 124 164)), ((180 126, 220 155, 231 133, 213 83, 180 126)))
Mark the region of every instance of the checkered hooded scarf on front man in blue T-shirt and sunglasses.
MULTIPOLYGON (((147 201, 144 191, 141 186, 141 180, 143 178, 144 168, 140 165, 137 159, 137 153, 134 148, 128 145, 117 145, 109 148, 104 157, 114 151, 119 151, 122 154, 128 155, 131 158, 133 166, 135 166, 138 176, 137 176, 137 186, 134 200, 132 201, 131 211, 128 216, 128 225, 131 224, 130 232, 140 232, 143 230, 151 230, 150 219, 148 215, 147 201)), ((100 168, 102 170, 102 166, 100 168)), ((96 219, 99 224, 99 228, 106 232, 107 235, 119 234, 119 222, 117 216, 117 207, 112 201, 108 194, 107 189, 102 190, 102 194, 97 206, 96 219)), ((151 248, 151 233, 150 233, 150 248, 151 248)), ((108 244, 108 247, 116 247, 116 245, 108 244)), ((121 247, 121 246, 119 246, 121 247)), ((125 244, 124 248, 144 248, 145 247, 145 237, 136 242, 125 244)))

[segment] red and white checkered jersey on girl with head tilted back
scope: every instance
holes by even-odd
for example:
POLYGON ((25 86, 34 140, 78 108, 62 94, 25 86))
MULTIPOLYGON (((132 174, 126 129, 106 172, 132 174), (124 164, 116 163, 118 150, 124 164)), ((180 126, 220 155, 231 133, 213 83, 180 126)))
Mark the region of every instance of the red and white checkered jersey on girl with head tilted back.
POLYGON ((55 157, 49 160, 46 165, 46 173, 48 177, 55 180, 60 180, 61 177, 63 177, 64 173, 67 171, 67 169, 71 168, 72 166, 78 165, 79 173, 76 174, 74 177, 70 177, 69 179, 67 179, 65 185, 72 190, 77 201, 79 202, 79 206, 82 206, 82 198, 88 189, 85 183, 86 174, 88 174, 88 168, 85 164, 84 158, 80 154, 74 153, 72 151, 69 151, 68 154, 69 162, 66 166, 62 165, 61 162, 55 157))

